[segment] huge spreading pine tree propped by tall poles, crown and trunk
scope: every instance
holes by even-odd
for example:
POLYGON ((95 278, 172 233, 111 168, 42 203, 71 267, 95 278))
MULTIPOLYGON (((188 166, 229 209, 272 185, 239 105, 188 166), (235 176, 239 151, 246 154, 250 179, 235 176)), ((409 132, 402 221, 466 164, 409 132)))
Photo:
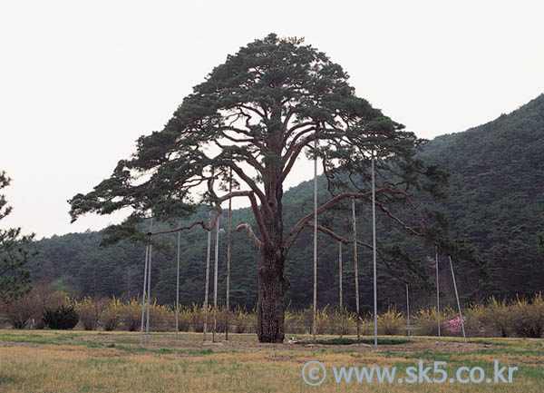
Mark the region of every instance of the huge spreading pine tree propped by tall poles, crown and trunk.
MULTIPOLYGON (((357 97, 347 80, 340 65, 302 39, 269 34, 240 48, 194 88, 163 130, 141 136, 137 152, 119 162, 109 179, 73 197, 73 220, 131 206, 126 230, 149 211, 158 218, 180 217, 209 205, 217 212, 213 226, 222 201, 247 198, 257 231, 249 224, 238 231, 248 231, 260 256, 257 335, 261 342, 282 341, 287 253, 314 218, 306 214, 284 230, 284 183, 303 152, 318 157, 328 182, 330 195, 318 214, 352 198, 371 200, 374 156, 378 209, 415 235, 423 236, 426 225, 411 192, 439 194, 446 182, 436 166, 415 158, 423 141, 357 97), (230 170, 236 190, 228 193, 230 170), (412 209, 413 221, 395 215, 395 204, 412 209)), ((207 222, 198 224, 210 229, 207 222)), ((342 240, 325 225, 319 230, 342 240)))

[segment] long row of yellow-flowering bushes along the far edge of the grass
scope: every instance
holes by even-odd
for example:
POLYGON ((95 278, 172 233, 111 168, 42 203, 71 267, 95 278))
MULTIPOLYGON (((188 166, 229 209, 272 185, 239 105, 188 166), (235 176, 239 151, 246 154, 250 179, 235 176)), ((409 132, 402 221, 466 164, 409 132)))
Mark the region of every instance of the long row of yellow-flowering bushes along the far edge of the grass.
MULTIPOLYGON (((66 306, 79 315, 83 329, 93 330, 102 327, 105 330, 126 329, 139 330, 141 326, 141 299, 121 300, 113 298, 70 300, 64 292, 54 291, 51 288, 36 285, 24 298, 12 305, 0 306, 0 319, 11 324, 15 329, 42 329, 44 327, 44 310, 51 310, 66 306)), ((147 304, 146 304, 147 306, 147 304)), ((64 311, 66 311, 66 307, 64 311)), ((208 313, 203 306, 192 303, 190 306, 180 306, 180 331, 201 332, 204 329, 205 316, 208 314, 208 331, 213 329, 214 310, 209 305, 208 313)), ((147 307, 145 310, 147 314, 147 307)), ((70 314, 70 312, 67 312, 70 314)), ((216 328, 224 332, 227 316, 229 329, 234 333, 254 333, 257 331, 257 315, 255 309, 248 311, 245 307, 236 306, 229 312, 221 307, 216 313, 216 328)), ((405 315, 398 311, 396 306, 389 305, 387 311, 378 315, 378 332, 381 335, 406 334, 405 315)), ((437 334, 436 308, 419 309, 411 315, 412 331, 423 336, 437 334)), ((71 323, 73 323, 72 319, 71 323)), ((156 300, 150 304, 150 327, 153 330, 175 329, 175 309, 163 306, 156 300)), ((463 310, 463 319, 467 336, 485 337, 542 337, 544 333, 544 297, 541 293, 530 299, 507 300, 490 299, 475 303, 463 310)), ((331 309, 325 306, 317 309, 317 334, 355 335, 357 326, 355 312, 346 309, 331 309), (344 329, 342 329, 344 320, 344 329)), ((313 310, 291 310, 285 312, 286 334, 310 334, 312 332, 313 310)), ((359 319, 360 332, 363 336, 372 335, 374 321, 372 315, 362 316, 359 319)), ((54 325, 54 323, 53 323, 54 325)), ((444 308, 441 310, 441 332, 443 335, 460 336, 461 318, 456 309, 444 308)))

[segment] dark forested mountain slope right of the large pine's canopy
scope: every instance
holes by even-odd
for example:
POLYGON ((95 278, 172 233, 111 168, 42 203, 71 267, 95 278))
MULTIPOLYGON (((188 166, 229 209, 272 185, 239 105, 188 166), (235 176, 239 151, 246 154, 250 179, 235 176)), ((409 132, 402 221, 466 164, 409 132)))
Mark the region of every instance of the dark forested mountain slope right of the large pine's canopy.
POLYGON ((544 94, 496 120, 427 143, 423 159, 452 174, 452 231, 490 261, 496 290, 544 289, 544 94))

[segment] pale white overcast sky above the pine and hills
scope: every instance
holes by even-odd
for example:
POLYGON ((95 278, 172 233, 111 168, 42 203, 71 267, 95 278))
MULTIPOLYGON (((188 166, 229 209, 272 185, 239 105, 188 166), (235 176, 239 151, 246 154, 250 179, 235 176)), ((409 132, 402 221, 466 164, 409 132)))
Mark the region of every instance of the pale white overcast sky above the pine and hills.
MULTIPOLYGON (((544 92, 542 1, 13 1, 0 5, 0 170, 39 237, 160 130, 211 69, 274 32, 304 36, 351 84, 423 138, 509 113, 544 92)), ((289 185, 311 178, 297 171, 289 185)))

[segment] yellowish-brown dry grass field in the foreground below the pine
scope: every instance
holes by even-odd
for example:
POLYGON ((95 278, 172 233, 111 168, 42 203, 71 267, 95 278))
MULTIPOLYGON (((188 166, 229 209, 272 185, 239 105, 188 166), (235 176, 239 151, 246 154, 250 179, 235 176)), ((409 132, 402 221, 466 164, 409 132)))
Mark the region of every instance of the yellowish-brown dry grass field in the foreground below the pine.
MULTIPOLYGON (((139 346, 139 333, 59 330, 0 330, 0 392, 522 392, 544 391, 543 339, 460 339, 404 337, 384 341, 375 351, 368 344, 259 344, 253 334, 223 335, 218 343, 201 334, 153 333, 139 346), (460 367, 481 367, 492 374, 500 367, 519 368, 512 383, 399 384, 405 369, 446 361, 448 378, 460 367), (306 385, 302 368, 320 361, 323 384, 306 385), (396 367, 394 383, 336 383, 333 368, 396 367)), ((297 336, 299 341, 309 337, 297 336)), ((325 337, 323 339, 333 339, 325 337)), ((508 376, 508 371, 504 373, 508 376)), ((429 374, 430 378, 440 375, 429 374)), ((463 378, 468 377, 468 372, 463 378)))

